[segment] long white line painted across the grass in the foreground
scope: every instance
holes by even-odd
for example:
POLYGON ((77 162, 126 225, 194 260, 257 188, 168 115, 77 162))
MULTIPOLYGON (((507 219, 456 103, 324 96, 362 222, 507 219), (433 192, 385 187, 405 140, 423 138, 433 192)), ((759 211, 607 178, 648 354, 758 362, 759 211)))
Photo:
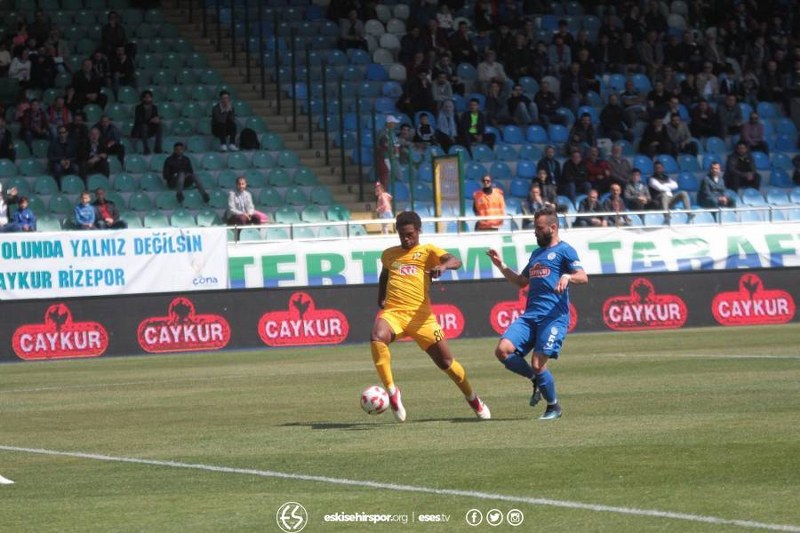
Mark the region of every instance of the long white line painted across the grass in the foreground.
POLYGON ((247 476, 258 476, 265 478, 292 479, 298 481, 313 481, 317 483, 329 483, 333 485, 347 485, 353 487, 368 487, 373 489, 391 490, 397 492, 416 492, 423 494, 436 494, 441 496, 463 496, 465 498, 477 498, 481 500, 505 501, 511 503, 524 503, 529 505, 544 505, 549 507, 562 507, 566 509, 579 509, 583 511, 594 511, 599 513, 615 513, 633 516, 646 516, 655 518, 667 518, 672 520, 684 520, 688 522, 701 522, 721 526, 738 526, 749 529, 765 529, 769 531, 789 531, 800 533, 800 526, 788 524, 769 524, 766 522, 756 522, 752 520, 736 520, 729 518, 719 518, 716 516, 694 515, 688 513, 676 513, 672 511, 659 511, 657 509, 638 509, 635 507, 614 507, 611 505, 600 505, 593 503, 573 502, 567 500, 550 500, 547 498, 530 498, 525 496, 510 496, 505 494, 494 494, 491 492, 480 492, 458 489, 436 489, 432 487, 421 487, 416 485, 397 485, 394 483, 381 483, 379 481, 364 481, 357 479, 335 478, 327 476, 312 476, 308 474, 296 474, 291 472, 276 472, 273 470, 255 470, 250 468, 232 468, 228 466, 204 465, 195 463, 180 463, 177 461, 159 461, 155 459, 137 459, 135 457, 114 457, 111 455, 100 455, 94 453, 65 452, 58 450, 46 450, 42 448, 21 448, 17 446, 0 445, 0 450, 8 452, 34 453, 39 455, 50 455, 60 457, 74 457, 78 459, 94 459, 96 461, 109 461, 115 463, 133 463, 149 466, 166 466, 170 468, 184 468, 189 470, 203 470, 206 472, 221 472, 225 474, 242 474, 247 476))

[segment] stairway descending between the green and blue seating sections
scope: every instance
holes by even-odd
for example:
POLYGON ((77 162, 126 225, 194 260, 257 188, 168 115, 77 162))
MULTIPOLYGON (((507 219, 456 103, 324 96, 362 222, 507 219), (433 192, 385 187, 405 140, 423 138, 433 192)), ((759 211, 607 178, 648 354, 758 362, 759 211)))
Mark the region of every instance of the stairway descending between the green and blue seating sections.
MULTIPOLYGON (((255 55, 251 56, 250 83, 247 83, 245 55, 241 51, 241 46, 237 49, 236 66, 233 65, 230 28, 223 27, 220 41, 221 51, 217 51, 216 30, 214 29, 215 26, 212 26, 210 22, 208 25, 208 37, 203 38, 202 13, 199 6, 195 6, 193 22, 189 21, 188 6, 184 2, 181 2, 178 7, 176 7, 175 2, 163 2, 161 11, 165 19, 178 28, 180 36, 189 41, 198 53, 206 57, 209 67, 215 69, 224 83, 236 92, 237 99, 249 104, 253 113, 266 122, 269 131, 281 136, 284 147, 295 152, 300 159, 300 163, 316 173, 320 184, 325 185, 331 191, 333 199, 350 210, 353 220, 369 220, 373 218, 375 199, 372 187, 365 184, 364 200, 361 201, 359 199, 358 166, 353 165, 349 158, 347 158, 347 164, 345 165, 346 182, 342 183, 339 150, 333 147, 332 137, 330 165, 326 165, 324 136, 321 131, 317 131, 316 125, 314 126, 312 137, 314 148, 309 149, 307 117, 298 115, 298 131, 292 131, 292 103, 288 97, 282 97, 282 113, 278 114, 275 83, 270 82, 269 72, 267 73, 266 98, 261 98, 261 90, 258 85, 260 71, 255 55)), ((380 225, 369 225, 368 230, 370 232, 379 232, 380 225)))

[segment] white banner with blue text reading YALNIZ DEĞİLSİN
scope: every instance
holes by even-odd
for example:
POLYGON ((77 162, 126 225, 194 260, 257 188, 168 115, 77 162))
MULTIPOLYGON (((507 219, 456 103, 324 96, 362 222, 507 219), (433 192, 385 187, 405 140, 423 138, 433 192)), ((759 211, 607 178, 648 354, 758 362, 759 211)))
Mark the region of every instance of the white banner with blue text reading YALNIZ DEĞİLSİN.
POLYGON ((5 233, 0 300, 225 289, 225 228, 5 233))

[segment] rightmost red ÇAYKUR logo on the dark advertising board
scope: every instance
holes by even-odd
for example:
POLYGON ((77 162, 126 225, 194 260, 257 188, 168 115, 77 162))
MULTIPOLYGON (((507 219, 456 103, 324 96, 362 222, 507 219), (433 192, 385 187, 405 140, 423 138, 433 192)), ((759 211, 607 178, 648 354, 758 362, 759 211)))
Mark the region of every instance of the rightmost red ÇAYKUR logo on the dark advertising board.
POLYGON ((780 289, 765 289, 755 274, 739 278, 739 290, 721 292, 711 302, 714 319, 723 326, 785 324, 794 318, 794 299, 780 289))

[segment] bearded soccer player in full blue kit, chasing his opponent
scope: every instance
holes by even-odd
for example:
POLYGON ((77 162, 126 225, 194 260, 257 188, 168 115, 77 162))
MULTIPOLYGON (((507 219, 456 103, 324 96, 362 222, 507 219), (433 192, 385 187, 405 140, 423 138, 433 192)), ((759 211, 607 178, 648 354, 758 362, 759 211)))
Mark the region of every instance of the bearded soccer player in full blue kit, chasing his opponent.
POLYGON ((496 250, 486 252, 503 276, 518 287, 528 287, 525 311, 500 337, 494 354, 510 371, 533 382, 530 405, 543 396, 547 409, 541 420, 561 417, 553 374, 547 368, 557 359, 569 327, 570 283, 588 283, 575 249, 558 237, 555 209, 545 207, 534 215, 536 243, 528 264, 517 274, 503 262, 496 250), (525 355, 533 351, 531 364, 525 355))

